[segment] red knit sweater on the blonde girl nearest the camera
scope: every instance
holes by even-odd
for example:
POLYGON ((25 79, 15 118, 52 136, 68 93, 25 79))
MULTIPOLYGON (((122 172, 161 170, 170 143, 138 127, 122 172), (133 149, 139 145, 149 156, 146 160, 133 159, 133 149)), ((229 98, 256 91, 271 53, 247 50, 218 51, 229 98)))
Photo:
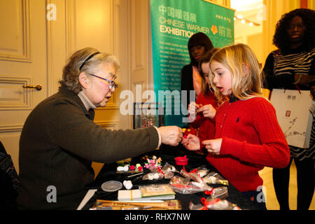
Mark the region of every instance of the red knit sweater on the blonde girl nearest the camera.
POLYGON ((223 138, 220 155, 209 153, 207 160, 232 183, 246 192, 262 186, 258 171, 264 166, 283 168, 290 151, 267 99, 255 97, 225 102, 214 118, 216 135, 223 138))

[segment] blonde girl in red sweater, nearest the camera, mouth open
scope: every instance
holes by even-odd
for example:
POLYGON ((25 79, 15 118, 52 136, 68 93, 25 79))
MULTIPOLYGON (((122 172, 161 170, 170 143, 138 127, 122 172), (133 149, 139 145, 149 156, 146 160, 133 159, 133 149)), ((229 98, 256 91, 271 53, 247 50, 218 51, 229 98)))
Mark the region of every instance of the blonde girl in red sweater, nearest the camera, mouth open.
MULTIPOLYGON (((209 152, 207 160, 265 209, 258 171, 265 166, 286 167, 290 151, 274 107, 262 97, 258 60, 248 45, 230 45, 211 57, 210 70, 219 107, 209 112, 216 123, 215 137, 202 141, 209 152)), ((192 134, 182 143, 189 150, 200 148, 200 140, 192 134)))

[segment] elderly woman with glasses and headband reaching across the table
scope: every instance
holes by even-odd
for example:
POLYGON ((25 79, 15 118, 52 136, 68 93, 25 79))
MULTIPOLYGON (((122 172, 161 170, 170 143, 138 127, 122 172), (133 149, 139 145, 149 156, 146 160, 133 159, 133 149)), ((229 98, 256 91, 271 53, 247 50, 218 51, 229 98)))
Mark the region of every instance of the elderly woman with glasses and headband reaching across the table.
POLYGON ((20 137, 20 209, 76 209, 94 179, 95 162, 115 162, 177 146, 176 126, 106 130, 93 122, 116 90, 118 62, 94 48, 74 52, 59 92, 31 111, 20 137), (55 195, 54 195, 55 194, 55 195))

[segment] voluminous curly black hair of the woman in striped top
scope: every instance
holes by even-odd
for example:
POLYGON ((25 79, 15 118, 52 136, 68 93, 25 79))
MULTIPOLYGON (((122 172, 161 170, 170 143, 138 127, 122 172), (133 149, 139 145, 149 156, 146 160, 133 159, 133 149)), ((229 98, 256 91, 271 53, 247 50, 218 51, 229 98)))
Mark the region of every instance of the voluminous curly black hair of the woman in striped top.
POLYGON ((306 27, 303 44, 309 50, 315 46, 315 10, 309 8, 297 8, 282 15, 281 19, 276 23, 273 43, 282 51, 290 49, 290 40, 286 28, 295 16, 300 16, 306 27))

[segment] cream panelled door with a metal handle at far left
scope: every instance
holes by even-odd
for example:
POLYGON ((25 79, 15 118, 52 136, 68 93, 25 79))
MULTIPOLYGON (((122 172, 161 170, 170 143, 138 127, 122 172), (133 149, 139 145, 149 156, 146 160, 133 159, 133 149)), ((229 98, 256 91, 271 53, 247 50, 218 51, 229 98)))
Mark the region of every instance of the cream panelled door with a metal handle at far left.
POLYGON ((0 0, 0 141, 17 171, 22 126, 48 97, 45 18, 45 1, 0 0))

